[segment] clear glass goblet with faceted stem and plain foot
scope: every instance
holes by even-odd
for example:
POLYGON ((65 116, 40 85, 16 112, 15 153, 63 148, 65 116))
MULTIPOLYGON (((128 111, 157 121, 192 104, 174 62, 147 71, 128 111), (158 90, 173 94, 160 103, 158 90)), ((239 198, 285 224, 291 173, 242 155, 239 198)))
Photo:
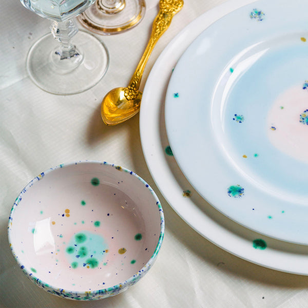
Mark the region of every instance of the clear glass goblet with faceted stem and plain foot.
POLYGON ((90 33, 79 31, 78 16, 94 0, 21 0, 37 15, 53 20, 51 33, 30 48, 27 70, 32 81, 54 94, 83 92, 106 73, 109 55, 105 46, 90 33))

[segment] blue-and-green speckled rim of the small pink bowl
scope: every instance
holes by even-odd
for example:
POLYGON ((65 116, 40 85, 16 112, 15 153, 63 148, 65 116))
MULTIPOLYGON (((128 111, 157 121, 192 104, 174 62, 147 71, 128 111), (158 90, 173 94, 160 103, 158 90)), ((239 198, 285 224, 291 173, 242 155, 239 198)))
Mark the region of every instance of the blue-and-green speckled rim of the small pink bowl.
MULTIPOLYGON (((38 286, 41 286, 41 287, 46 288, 46 289, 49 288, 49 289, 53 290, 56 293, 56 295, 59 295, 59 296, 62 296, 62 297, 67 297, 67 296, 64 296, 63 292, 65 292, 66 294, 69 293, 71 295, 76 296, 77 297, 76 299, 78 299, 82 296, 88 297, 88 299, 95 299, 95 298, 89 297, 89 294, 92 294, 92 295, 94 294, 94 297, 97 296, 97 295, 101 295, 101 296, 105 295, 105 297, 107 297, 108 294, 112 294, 114 292, 116 292, 115 294, 118 294, 118 293, 121 292, 121 290, 124 290, 126 288, 126 286, 129 286, 130 284, 137 282, 141 278, 140 273, 145 274, 149 270, 149 268, 152 266, 152 264, 155 262, 155 260, 158 256, 158 253, 160 251, 160 248, 162 246, 162 242, 163 242, 163 238, 164 238, 164 232, 165 232, 165 220, 164 220, 163 209, 162 209, 161 203, 160 203, 155 191, 150 187, 150 185, 145 180, 143 180, 140 176, 138 176, 136 173, 134 173, 133 171, 131 171, 131 170, 125 168, 125 167, 122 167, 120 165, 116 165, 116 164, 113 164, 113 163, 109 163, 109 162, 106 162, 106 161, 96 161, 96 160, 80 160, 80 161, 75 161, 75 162, 63 163, 63 164, 60 164, 60 165, 56 165, 55 167, 51 167, 51 168, 47 169, 46 171, 42 172, 41 174, 39 174, 38 176, 36 176, 35 178, 33 178, 22 189, 20 194, 18 194, 17 198, 15 199, 15 201, 12 205, 11 211, 10 211, 9 221, 8 221, 8 240, 9 240, 9 246, 10 246, 11 252, 14 256, 15 261, 20 266, 20 268, 23 270, 23 272, 27 275, 27 277, 30 278, 31 280, 33 280, 34 282, 36 282, 36 284, 38 284, 38 286), (12 241, 11 241, 12 215, 14 214, 14 210, 15 210, 16 206, 22 200, 23 195, 27 192, 27 190, 34 183, 40 181, 45 175, 49 174, 50 172, 52 172, 56 169, 65 168, 65 167, 72 166, 72 165, 80 165, 80 164, 107 165, 107 166, 110 166, 110 167, 114 167, 115 169, 117 169, 119 171, 127 172, 130 175, 136 177, 139 181, 141 181, 145 185, 145 187, 151 192, 153 198, 156 200, 156 205, 158 206, 158 210, 159 210, 159 214, 160 214, 160 220, 161 220, 160 236, 159 236, 159 239, 158 239, 158 243, 155 247, 155 250, 154 250, 152 256, 150 257, 150 259, 147 261, 147 263, 145 265, 143 265, 143 267, 141 267, 135 275, 129 277, 127 280, 120 282, 118 284, 115 284, 113 286, 107 287, 107 288, 99 288, 99 289, 95 289, 95 290, 91 290, 91 291, 73 291, 73 290, 68 290, 68 289, 66 289, 64 291, 60 287, 55 287, 53 285, 46 283, 45 281, 43 281, 40 278, 33 275, 33 273, 29 273, 29 271, 27 271, 25 266, 20 262, 20 260, 18 259, 17 255, 14 251, 14 247, 13 247, 12 241), (57 291, 59 291, 59 292, 57 292, 57 291)), ((103 298, 103 297, 101 297, 101 298, 103 298)), ((80 299, 82 299, 82 298, 80 298, 80 299)))

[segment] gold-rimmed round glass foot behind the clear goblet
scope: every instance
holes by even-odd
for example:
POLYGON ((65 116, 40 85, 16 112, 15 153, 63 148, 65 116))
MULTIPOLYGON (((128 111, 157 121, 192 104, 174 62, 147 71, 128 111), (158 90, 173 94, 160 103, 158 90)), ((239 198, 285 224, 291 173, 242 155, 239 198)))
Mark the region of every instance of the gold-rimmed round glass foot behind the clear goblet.
POLYGON ((136 26, 144 13, 144 0, 97 0, 77 19, 94 33, 117 34, 136 26))

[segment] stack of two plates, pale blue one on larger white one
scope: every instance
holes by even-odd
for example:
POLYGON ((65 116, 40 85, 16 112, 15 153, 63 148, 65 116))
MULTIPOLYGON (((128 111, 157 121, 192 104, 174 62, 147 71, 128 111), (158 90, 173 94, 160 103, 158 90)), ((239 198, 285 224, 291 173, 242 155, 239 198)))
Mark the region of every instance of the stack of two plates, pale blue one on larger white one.
POLYGON ((230 0, 201 15, 153 66, 140 111, 148 167, 177 213, 226 251, 301 275, 308 275, 306 4, 230 0))

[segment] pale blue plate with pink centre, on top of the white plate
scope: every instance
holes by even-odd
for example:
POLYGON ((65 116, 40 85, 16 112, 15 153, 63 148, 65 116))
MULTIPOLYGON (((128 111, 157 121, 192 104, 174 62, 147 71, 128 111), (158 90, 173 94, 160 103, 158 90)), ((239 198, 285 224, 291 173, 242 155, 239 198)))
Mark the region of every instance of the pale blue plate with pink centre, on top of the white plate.
POLYGON ((260 0, 210 25, 166 93, 174 156, 228 218, 308 245, 308 12, 260 0))

